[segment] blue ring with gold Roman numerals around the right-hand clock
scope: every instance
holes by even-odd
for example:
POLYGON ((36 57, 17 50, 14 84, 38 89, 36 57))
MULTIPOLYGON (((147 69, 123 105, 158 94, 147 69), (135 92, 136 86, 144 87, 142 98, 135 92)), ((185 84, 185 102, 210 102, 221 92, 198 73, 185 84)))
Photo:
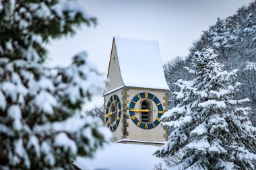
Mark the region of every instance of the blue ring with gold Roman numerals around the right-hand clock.
POLYGON ((152 93, 148 93, 148 92, 142 92, 142 93, 137 93, 137 95, 135 95, 133 97, 133 99, 131 99, 130 105, 129 105, 129 114, 131 117, 131 120, 133 121, 133 123, 138 126, 139 128, 143 128, 143 129, 152 129, 152 128, 156 128, 156 126, 158 126, 160 124, 160 118, 161 116, 164 114, 164 109, 162 107, 162 103, 161 101, 158 99, 158 97, 156 97, 156 95, 153 95, 152 93), (152 100, 154 103, 156 103, 156 106, 158 108, 158 117, 156 118, 156 120, 154 120, 153 122, 149 123, 149 124, 145 124, 143 122, 140 122, 134 111, 134 107, 135 104, 137 103, 137 101, 139 101, 139 99, 150 99, 152 100))

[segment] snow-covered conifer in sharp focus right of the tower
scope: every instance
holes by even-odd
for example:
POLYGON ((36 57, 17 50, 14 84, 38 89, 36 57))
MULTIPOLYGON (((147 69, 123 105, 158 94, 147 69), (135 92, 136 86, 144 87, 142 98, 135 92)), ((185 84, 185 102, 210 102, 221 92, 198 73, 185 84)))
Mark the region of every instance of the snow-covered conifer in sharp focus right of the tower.
POLYGON ((234 99, 240 83, 232 85, 237 70, 223 71, 211 48, 195 52, 191 81, 179 80, 173 93, 179 104, 162 116, 162 125, 175 128, 157 157, 177 156, 171 169, 255 169, 256 128, 243 105, 234 99))

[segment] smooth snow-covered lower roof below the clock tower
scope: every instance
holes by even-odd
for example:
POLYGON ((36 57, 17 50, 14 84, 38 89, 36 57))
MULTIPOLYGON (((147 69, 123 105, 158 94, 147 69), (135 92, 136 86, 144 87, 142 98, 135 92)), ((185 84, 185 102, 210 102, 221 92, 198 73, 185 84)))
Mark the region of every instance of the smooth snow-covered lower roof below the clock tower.
POLYGON ((110 143, 96 151, 93 159, 78 157, 75 165, 82 170, 141 170, 152 169, 162 162, 156 158, 157 146, 110 143))

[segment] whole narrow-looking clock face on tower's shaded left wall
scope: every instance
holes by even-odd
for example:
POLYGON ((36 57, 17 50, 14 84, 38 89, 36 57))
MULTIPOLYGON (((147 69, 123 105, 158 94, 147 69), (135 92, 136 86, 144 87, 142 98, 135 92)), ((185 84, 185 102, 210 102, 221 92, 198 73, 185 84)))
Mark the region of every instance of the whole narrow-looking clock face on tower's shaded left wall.
POLYGON ((121 119, 121 103, 117 95, 112 95, 106 105, 104 114, 106 126, 113 132, 117 129, 121 119))

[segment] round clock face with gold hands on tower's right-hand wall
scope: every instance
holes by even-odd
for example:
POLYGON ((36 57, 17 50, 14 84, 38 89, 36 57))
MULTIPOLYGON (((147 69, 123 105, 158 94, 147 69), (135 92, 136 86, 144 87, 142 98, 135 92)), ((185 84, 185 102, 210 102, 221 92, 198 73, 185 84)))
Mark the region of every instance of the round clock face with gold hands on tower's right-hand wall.
POLYGON ((163 114, 162 103, 151 93, 139 93, 133 97, 129 105, 131 120, 143 129, 156 128, 163 114), (155 105, 155 107, 153 107, 155 105), (138 108, 139 109, 135 109, 138 108), (154 110, 154 108, 157 108, 154 110))

